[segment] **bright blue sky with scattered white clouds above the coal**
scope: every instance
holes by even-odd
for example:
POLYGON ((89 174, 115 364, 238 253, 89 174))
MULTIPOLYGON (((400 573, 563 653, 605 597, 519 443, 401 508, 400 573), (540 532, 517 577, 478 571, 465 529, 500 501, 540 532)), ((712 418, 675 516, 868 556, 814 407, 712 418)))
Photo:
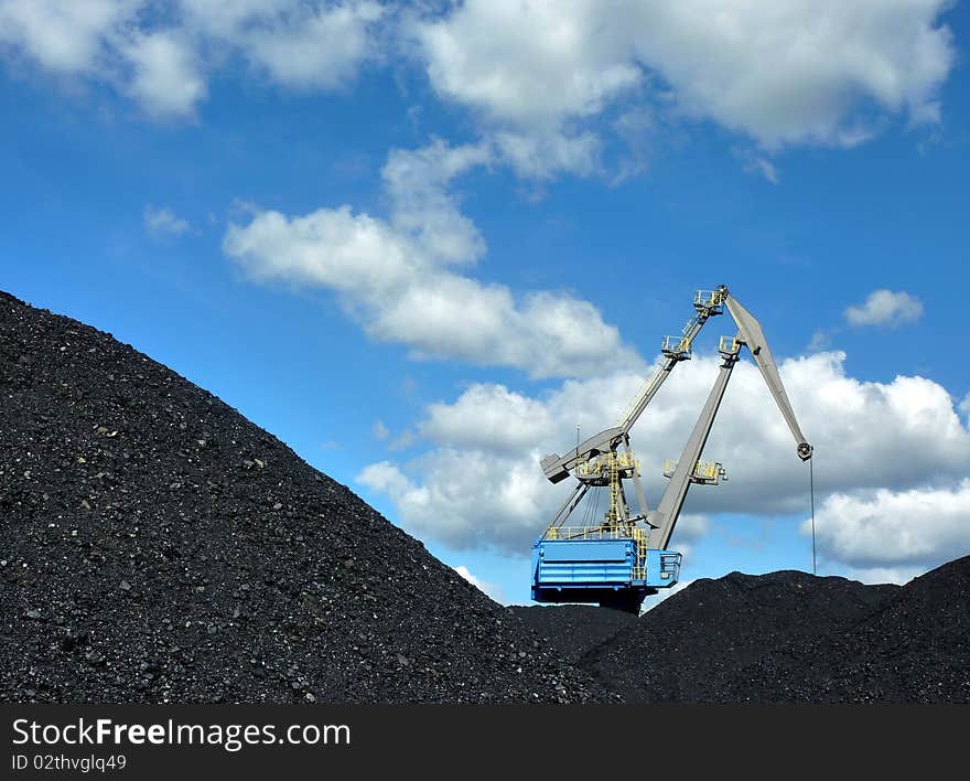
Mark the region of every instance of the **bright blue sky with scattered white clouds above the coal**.
MULTIPOLYGON (((527 601, 568 491, 538 458, 723 282, 816 443, 820 573, 905 580, 970 552, 968 34, 933 0, 0 0, 0 288, 527 601)), ((729 331, 633 431, 653 504, 729 331)), ((687 580, 811 563, 807 470, 735 375, 687 580)))

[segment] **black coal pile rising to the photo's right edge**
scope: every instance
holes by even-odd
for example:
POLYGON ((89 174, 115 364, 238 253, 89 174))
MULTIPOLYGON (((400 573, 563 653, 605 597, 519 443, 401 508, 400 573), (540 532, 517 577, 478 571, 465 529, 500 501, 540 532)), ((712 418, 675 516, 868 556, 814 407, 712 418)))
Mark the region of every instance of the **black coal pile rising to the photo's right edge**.
POLYGON ((724 692, 773 703, 970 703, 970 556, 915 578, 850 630, 769 654, 724 692))

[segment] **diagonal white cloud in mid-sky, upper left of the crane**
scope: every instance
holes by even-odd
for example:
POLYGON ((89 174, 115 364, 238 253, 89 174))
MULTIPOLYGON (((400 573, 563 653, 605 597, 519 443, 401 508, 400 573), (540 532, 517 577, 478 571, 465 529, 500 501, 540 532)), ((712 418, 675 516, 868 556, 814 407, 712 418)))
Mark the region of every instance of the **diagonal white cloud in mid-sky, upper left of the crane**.
POLYGON ((561 291, 516 295, 454 270, 486 247, 448 186, 493 159, 484 145, 395 150, 382 171, 388 218, 346 205, 294 217, 257 211, 247 225, 229 226, 224 252, 257 280, 334 290, 371 336, 406 344, 416 357, 515 366, 536 377, 639 365, 589 301, 561 291))

